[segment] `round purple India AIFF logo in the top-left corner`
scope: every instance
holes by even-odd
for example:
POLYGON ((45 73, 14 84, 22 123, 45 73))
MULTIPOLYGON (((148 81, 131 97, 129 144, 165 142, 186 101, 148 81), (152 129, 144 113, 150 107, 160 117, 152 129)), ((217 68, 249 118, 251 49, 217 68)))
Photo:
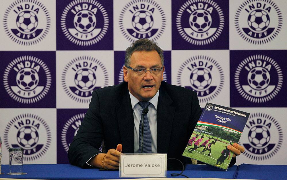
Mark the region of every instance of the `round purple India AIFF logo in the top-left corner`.
POLYGON ((36 0, 18 0, 5 11, 3 27, 20 45, 33 45, 46 37, 51 26, 49 11, 36 0))

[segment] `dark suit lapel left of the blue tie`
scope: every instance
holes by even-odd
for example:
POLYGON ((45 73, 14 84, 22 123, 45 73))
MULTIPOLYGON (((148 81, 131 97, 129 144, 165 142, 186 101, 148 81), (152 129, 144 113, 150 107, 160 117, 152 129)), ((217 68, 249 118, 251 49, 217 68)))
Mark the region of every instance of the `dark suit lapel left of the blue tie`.
POLYGON ((118 98, 117 106, 117 119, 123 145, 123 153, 134 153, 135 134, 133 109, 131 108, 131 99, 129 97, 129 91, 127 87, 122 89, 122 92, 118 98))

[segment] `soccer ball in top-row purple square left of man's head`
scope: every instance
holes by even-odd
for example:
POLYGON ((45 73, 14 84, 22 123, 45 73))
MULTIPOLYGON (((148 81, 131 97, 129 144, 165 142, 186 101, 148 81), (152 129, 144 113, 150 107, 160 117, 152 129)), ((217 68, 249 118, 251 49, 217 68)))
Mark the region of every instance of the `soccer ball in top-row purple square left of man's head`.
POLYGON ((79 11, 74 17, 74 26, 81 33, 91 32, 96 22, 96 16, 88 10, 79 11))

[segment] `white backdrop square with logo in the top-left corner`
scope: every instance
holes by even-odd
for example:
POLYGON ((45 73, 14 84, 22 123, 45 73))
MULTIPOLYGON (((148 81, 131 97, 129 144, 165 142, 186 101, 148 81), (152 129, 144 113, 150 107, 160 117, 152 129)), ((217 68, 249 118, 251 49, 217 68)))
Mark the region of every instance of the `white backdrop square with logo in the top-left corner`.
POLYGON ((55 0, 1 1, 0 14, 0 50, 56 50, 55 0))

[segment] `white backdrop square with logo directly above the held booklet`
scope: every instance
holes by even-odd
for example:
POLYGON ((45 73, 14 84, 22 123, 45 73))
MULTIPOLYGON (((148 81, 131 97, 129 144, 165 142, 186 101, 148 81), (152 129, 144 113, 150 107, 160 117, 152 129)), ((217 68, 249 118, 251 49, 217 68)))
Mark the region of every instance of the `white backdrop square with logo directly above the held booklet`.
POLYGON ((229 107, 229 50, 173 50, 171 82, 207 102, 229 107))

